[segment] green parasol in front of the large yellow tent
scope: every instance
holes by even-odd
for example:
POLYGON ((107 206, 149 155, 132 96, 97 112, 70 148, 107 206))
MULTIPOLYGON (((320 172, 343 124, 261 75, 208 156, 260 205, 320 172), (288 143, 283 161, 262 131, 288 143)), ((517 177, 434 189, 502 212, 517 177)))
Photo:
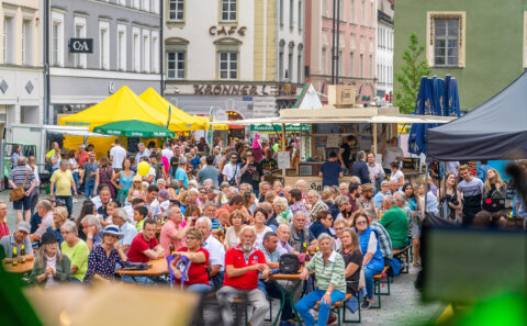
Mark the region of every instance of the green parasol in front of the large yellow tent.
POLYGON ((102 124, 94 127, 93 133, 142 138, 164 138, 175 136, 173 132, 164 126, 138 120, 124 120, 102 124))

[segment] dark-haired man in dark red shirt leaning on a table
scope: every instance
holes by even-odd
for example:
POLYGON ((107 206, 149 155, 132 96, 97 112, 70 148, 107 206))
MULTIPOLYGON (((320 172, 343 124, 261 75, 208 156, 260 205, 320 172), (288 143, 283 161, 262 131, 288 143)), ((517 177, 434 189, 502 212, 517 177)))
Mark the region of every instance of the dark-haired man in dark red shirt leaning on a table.
MULTIPOLYGON (((128 260, 131 262, 148 262, 165 257, 165 250, 156 239, 157 222, 153 218, 146 218, 143 232, 135 236, 128 248, 128 260)), ((138 283, 152 283, 153 279, 146 277, 131 278, 123 277, 123 281, 132 281, 138 283)))

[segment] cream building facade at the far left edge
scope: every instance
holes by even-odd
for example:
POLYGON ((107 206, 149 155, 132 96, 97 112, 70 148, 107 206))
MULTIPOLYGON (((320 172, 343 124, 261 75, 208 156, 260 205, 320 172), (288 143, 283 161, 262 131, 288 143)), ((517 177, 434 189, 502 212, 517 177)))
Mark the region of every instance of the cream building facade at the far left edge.
POLYGON ((1 0, 0 124, 42 121, 40 1, 1 0))

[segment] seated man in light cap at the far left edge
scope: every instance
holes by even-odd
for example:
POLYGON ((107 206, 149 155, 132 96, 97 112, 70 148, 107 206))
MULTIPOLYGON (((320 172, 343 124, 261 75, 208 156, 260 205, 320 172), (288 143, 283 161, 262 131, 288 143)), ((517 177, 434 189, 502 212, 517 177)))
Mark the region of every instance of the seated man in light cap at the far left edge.
POLYGON ((13 261, 13 252, 16 252, 19 262, 33 260, 33 248, 30 240, 31 225, 25 221, 19 222, 16 229, 12 235, 7 235, 0 240, 0 258, 2 262, 11 263, 13 261))

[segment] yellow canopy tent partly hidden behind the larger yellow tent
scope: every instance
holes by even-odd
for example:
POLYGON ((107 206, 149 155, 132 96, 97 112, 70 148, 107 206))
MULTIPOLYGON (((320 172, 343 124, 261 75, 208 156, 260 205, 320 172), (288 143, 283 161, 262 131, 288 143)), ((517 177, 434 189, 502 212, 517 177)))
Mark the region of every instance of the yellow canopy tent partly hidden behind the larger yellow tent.
POLYGON ((184 112, 183 110, 178 109, 176 105, 168 102, 165 98, 162 98, 156 90, 152 87, 144 91, 139 98, 148 103, 152 108, 154 108, 158 112, 162 112, 168 116, 168 108, 172 111, 171 121, 182 122, 183 125, 178 128, 169 130, 173 132, 187 132, 187 131, 198 131, 198 130, 206 130, 206 121, 203 122, 201 119, 197 119, 184 112))

